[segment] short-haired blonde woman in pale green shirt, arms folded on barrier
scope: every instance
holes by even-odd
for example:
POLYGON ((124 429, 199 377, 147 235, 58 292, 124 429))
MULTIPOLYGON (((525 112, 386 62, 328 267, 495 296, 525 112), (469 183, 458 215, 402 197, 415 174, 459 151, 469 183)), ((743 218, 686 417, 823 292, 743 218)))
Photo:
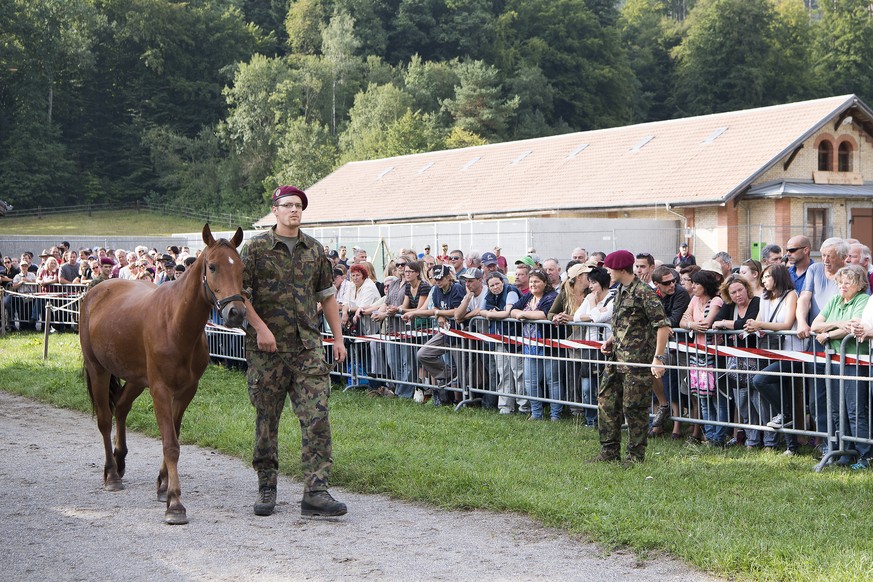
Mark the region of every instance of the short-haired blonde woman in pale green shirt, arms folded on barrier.
MULTIPOLYGON (((860 265, 846 265, 837 271, 835 277, 839 294, 825 305, 821 313, 813 320, 810 325, 812 333, 816 334, 816 341, 822 345, 830 347, 836 353, 845 353, 849 356, 867 355, 869 353, 868 344, 857 343, 854 336, 843 345, 843 338, 852 334, 852 320, 859 319, 867 306, 867 301, 870 296, 867 295, 867 271, 860 265), (845 348, 845 352, 842 352, 845 348)), ((816 364, 816 373, 823 375, 826 371, 824 364, 816 364)), ((832 373, 835 372, 832 370, 832 373)), ((838 372, 838 370, 836 370, 838 372)), ((856 365, 846 365, 846 375, 857 375, 856 365)), ((831 388, 839 385, 838 382, 832 381, 831 388)), ((861 384, 863 385, 863 384, 861 384)), ((846 414, 848 434, 856 437, 868 438, 870 436, 870 394, 869 388, 865 386, 864 390, 859 390, 859 384, 856 380, 842 380, 843 395, 846 401, 846 414)), ((839 422, 837 402, 838 399, 834 395, 835 390, 830 391, 831 398, 831 414, 835 426, 839 422)), ((819 427, 822 430, 824 427, 819 427)), ((859 460, 852 465, 853 469, 866 469, 869 465, 873 446, 869 443, 853 443, 853 446, 858 452, 859 460)), ((852 457, 843 456, 837 460, 837 465, 850 465, 852 457)))

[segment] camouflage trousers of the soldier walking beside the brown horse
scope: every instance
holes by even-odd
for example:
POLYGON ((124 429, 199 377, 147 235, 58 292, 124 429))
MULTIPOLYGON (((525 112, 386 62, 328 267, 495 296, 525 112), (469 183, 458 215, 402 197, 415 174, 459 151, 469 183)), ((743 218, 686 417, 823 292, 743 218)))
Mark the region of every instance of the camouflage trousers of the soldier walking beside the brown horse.
POLYGON ((331 458, 327 401, 330 379, 321 350, 267 353, 246 350, 249 400, 255 407, 255 450, 252 466, 260 485, 276 484, 279 471, 279 418, 286 396, 300 421, 303 487, 328 487, 331 458))

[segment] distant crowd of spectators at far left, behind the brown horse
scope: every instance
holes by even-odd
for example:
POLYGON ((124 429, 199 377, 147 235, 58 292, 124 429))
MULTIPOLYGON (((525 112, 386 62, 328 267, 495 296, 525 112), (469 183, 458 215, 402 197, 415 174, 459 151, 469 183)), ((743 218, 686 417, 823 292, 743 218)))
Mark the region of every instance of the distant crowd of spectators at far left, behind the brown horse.
POLYGON ((3 256, 0 285, 16 294, 3 299, 7 331, 13 327, 41 329, 46 299, 41 294, 58 285, 90 288, 106 279, 143 280, 160 285, 181 276, 197 259, 200 251, 168 246, 166 252, 137 246, 131 251, 103 247, 73 249, 61 242, 44 249, 38 256, 31 251, 19 257, 3 256), (32 297, 30 297, 32 296, 32 297))

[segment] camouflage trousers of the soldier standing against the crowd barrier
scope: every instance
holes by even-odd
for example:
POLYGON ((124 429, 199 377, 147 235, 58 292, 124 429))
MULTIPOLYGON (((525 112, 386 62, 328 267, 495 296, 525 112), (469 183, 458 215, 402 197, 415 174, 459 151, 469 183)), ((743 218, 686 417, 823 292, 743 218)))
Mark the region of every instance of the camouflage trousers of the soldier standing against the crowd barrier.
POLYGON ((597 395, 597 430, 602 453, 621 453, 622 416, 627 422, 627 454, 637 460, 646 456, 652 375, 647 368, 607 365, 597 395))

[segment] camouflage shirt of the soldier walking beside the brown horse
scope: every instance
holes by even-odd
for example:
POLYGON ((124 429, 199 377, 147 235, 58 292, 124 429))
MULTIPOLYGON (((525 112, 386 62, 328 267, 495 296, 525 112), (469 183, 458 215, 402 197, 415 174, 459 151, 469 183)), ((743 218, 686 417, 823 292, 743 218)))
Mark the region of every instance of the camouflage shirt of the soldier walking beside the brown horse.
MULTIPOLYGON (((294 253, 275 229, 252 237, 242 248, 243 293, 273 335, 280 352, 321 347, 316 304, 336 292, 324 247, 300 232, 294 253)), ((258 349, 255 330, 246 330, 246 351, 258 349)))

